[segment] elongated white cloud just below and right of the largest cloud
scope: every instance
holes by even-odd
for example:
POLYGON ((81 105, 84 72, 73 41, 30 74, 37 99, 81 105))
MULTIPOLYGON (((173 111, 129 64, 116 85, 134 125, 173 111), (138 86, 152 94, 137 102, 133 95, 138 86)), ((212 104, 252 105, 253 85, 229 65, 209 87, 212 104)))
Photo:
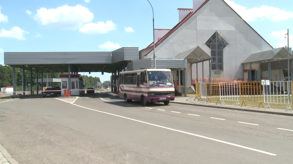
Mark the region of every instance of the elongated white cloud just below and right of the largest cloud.
POLYGON ((79 31, 85 34, 103 34, 112 30, 116 30, 116 24, 112 21, 88 23, 79 28, 79 31))

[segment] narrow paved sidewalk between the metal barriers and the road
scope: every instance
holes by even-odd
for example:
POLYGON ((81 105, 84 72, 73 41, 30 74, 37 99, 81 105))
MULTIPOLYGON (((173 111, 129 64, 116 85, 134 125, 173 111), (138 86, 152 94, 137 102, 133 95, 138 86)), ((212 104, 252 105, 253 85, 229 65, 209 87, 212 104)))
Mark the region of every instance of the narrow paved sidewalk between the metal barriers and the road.
MULTIPOLYGON (((293 111, 285 111, 281 109, 264 109, 257 107, 240 107, 236 105, 219 105, 213 103, 199 102, 198 100, 194 100, 195 96, 190 97, 175 97, 174 101, 170 101, 171 103, 183 104, 183 105, 193 105, 193 106, 202 106, 202 107, 210 107, 210 108, 220 108, 220 109, 231 109, 238 111, 250 111, 250 112, 258 112, 258 113, 268 113, 268 114, 279 114, 286 116, 293 116, 293 111)), ((196 108, 195 108, 196 109, 196 108)))

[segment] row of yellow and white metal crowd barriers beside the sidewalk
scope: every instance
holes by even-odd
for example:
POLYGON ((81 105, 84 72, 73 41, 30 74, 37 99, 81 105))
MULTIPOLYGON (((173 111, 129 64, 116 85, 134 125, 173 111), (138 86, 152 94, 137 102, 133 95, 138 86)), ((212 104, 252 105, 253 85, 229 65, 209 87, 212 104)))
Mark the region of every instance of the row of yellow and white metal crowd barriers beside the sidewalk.
POLYGON ((291 109, 290 105, 293 104, 291 81, 196 83, 195 88, 197 95, 195 99, 204 102, 213 101, 216 104, 230 102, 234 105, 247 106, 246 103, 249 103, 248 106, 251 106, 257 103, 258 108, 261 106, 270 108, 270 105, 279 108, 278 104, 282 104, 287 105, 286 110, 291 109))

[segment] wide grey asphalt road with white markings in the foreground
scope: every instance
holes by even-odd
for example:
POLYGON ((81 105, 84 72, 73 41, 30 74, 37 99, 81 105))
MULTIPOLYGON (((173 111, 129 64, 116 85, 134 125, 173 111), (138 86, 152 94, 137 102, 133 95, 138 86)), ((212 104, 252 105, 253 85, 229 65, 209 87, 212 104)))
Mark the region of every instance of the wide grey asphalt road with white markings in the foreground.
POLYGON ((0 143, 20 164, 291 163, 289 130, 289 116, 114 96, 0 103, 0 143))

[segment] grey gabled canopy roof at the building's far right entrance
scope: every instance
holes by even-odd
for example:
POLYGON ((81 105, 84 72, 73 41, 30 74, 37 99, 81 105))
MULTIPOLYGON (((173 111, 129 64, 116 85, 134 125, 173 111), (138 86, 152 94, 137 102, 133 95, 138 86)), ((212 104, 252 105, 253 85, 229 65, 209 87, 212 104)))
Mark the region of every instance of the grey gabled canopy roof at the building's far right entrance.
MULTIPOLYGON (((293 55, 289 53, 289 59, 293 58, 293 55)), ((244 62, 245 63, 253 63, 253 62, 273 62, 278 60, 288 59, 288 50, 285 47, 276 48, 273 50, 262 51, 258 53, 252 53, 244 62)))

